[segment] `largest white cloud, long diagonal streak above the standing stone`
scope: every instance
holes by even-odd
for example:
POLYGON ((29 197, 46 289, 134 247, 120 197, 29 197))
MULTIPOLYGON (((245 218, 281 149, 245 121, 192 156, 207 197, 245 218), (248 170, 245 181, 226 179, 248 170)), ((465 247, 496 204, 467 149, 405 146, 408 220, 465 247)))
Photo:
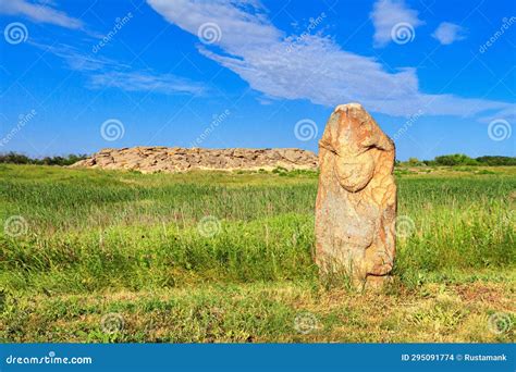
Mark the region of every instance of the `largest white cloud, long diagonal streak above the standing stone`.
POLYGON ((415 69, 389 73, 374 59, 343 50, 321 35, 286 36, 267 18, 257 2, 148 0, 169 22, 197 37, 199 27, 217 23, 220 39, 198 42, 207 58, 232 70, 251 88, 272 98, 307 99, 334 107, 358 101, 368 110, 408 116, 476 115, 514 104, 419 90, 415 69))

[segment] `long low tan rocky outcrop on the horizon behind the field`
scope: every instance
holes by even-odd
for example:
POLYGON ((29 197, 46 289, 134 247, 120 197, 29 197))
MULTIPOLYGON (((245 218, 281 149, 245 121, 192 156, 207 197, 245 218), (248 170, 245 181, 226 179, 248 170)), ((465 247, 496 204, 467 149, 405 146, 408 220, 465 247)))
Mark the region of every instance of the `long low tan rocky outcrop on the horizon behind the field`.
POLYGON ((299 149, 200 149, 179 147, 134 147, 103 149, 72 168, 131 170, 142 173, 193 170, 255 171, 317 170, 317 156, 299 149))

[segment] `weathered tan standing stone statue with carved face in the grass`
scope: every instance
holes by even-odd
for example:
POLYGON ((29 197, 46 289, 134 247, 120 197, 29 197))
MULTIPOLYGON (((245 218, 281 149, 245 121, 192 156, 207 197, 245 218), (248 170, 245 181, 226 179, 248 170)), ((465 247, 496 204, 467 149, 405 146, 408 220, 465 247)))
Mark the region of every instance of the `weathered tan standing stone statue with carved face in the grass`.
POLYGON ((316 261, 380 286, 395 253, 394 142, 358 103, 339 106, 319 141, 316 261))

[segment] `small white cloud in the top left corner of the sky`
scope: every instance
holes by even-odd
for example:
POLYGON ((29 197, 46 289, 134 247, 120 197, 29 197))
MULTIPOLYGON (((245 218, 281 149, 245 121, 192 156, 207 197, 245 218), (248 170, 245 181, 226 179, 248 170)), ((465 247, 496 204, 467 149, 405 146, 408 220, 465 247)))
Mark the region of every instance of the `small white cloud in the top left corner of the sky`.
POLYGON ((81 20, 71 17, 66 13, 48 7, 47 3, 30 3, 26 0, 2 0, 0 14, 24 15, 37 23, 50 23, 66 28, 82 28, 81 20))

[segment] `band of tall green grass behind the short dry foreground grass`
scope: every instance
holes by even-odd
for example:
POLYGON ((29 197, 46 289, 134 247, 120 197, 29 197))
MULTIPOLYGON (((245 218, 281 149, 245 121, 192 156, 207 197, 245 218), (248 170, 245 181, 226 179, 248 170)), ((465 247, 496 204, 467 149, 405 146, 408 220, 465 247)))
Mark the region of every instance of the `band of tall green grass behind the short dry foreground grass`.
MULTIPOLYGON (((0 168, 0 219, 21 215, 27 234, 0 233, 0 285, 81 293, 198 283, 316 280, 317 176, 181 174, 0 168), (220 222, 204 236, 202 218, 220 222)), ((398 178, 395 274, 509 268, 515 263, 514 175, 398 178)))

